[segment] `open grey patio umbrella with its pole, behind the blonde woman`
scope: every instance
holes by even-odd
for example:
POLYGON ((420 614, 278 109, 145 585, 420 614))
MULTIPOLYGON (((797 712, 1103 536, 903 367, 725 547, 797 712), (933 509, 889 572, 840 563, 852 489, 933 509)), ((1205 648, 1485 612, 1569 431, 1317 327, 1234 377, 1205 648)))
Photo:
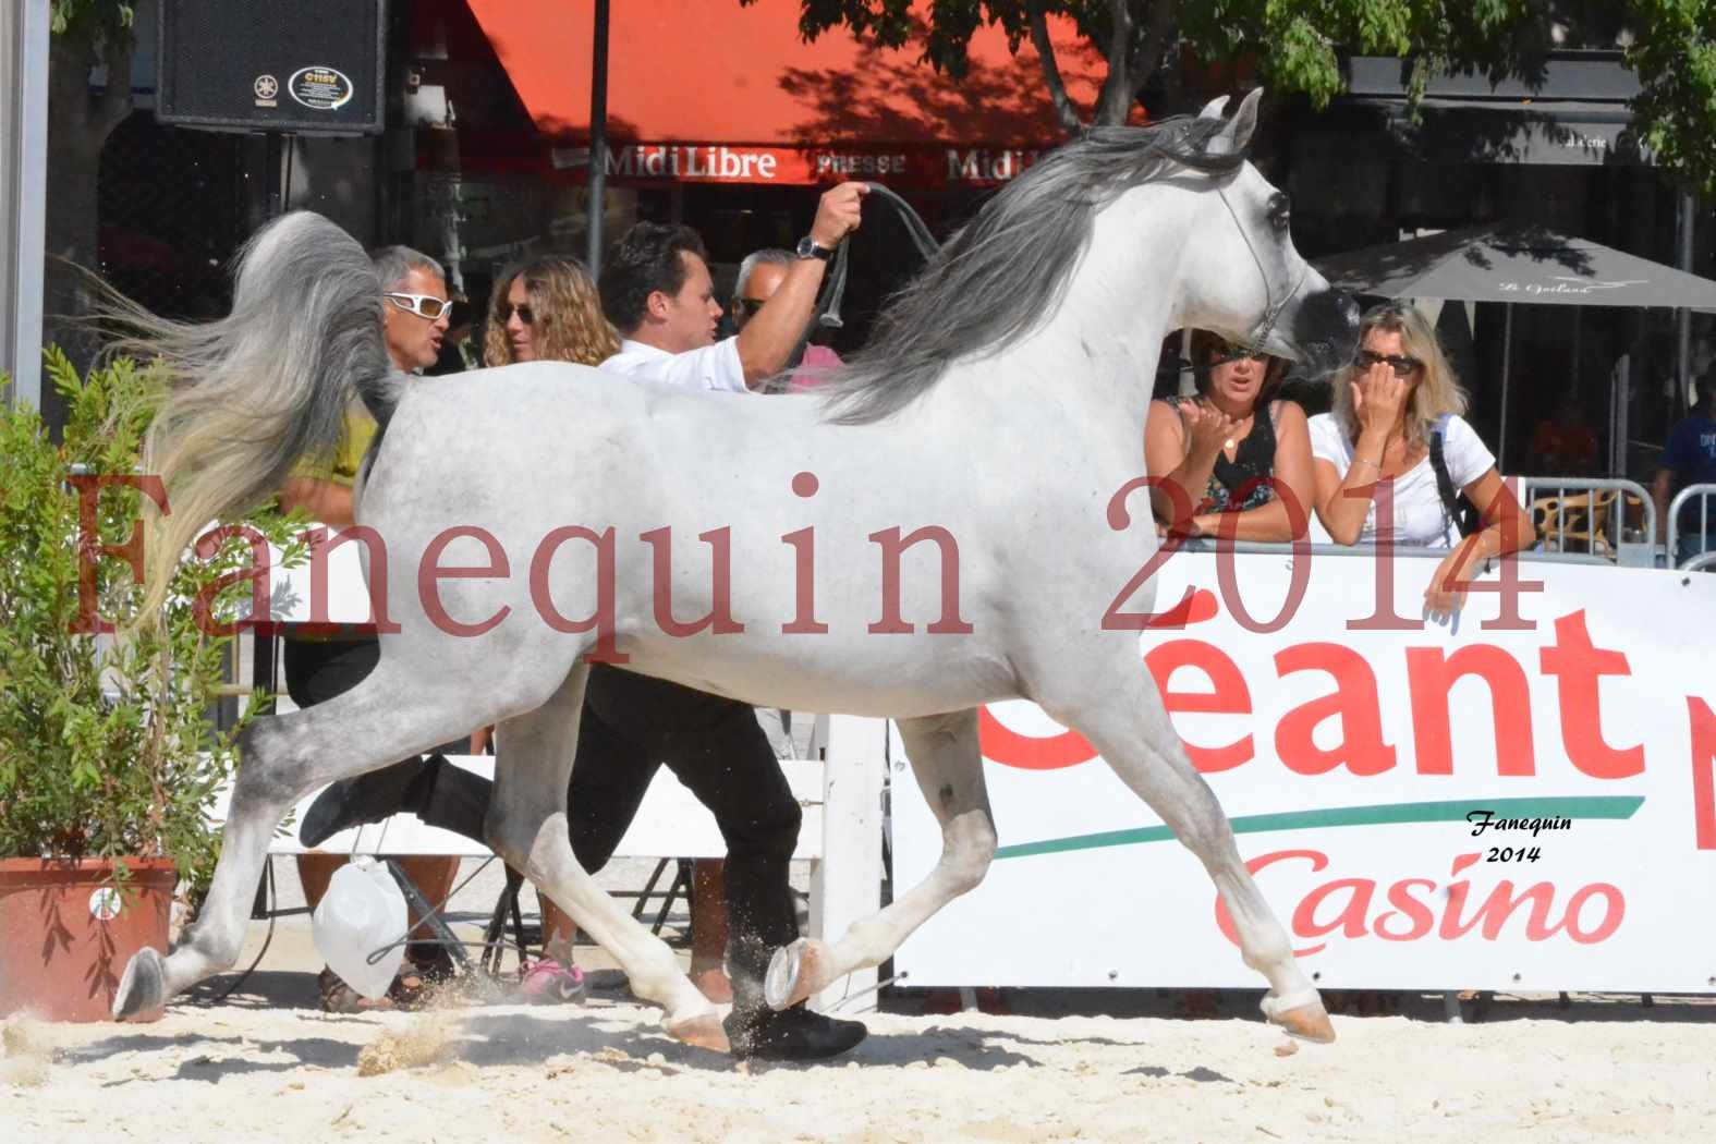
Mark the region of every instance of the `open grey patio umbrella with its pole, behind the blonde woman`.
MULTIPOLYGON (((1493 223, 1333 254, 1332 285, 1388 298, 1507 304, 1502 328, 1502 449, 1507 449, 1514 304, 1716 309, 1716 281, 1544 226, 1493 223)), ((1503 458, 1498 456, 1498 463, 1503 458)))

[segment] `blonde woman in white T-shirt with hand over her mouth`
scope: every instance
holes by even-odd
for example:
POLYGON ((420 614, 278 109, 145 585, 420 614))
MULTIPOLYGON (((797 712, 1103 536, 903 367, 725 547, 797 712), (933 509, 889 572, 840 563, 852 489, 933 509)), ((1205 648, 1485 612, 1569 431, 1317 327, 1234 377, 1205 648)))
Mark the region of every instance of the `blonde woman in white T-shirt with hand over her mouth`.
POLYGON ((1450 549, 1424 590, 1433 617, 1460 607, 1453 585, 1469 580, 1484 559, 1529 547, 1531 520, 1502 484, 1495 455, 1462 417, 1465 393, 1436 331, 1409 305, 1380 305, 1359 326, 1359 357, 1335 379, 1335 408, 1311 418, 1311 467, 1316 515, 1337 544, 1424 545, 1450 549), (1479 513, 1479 527, 1462 539, 1436 470, 1431 439, 1440 431, 1443 468, 1479 513), (1378 489, 1392 504, 1378 521, 1378 489))

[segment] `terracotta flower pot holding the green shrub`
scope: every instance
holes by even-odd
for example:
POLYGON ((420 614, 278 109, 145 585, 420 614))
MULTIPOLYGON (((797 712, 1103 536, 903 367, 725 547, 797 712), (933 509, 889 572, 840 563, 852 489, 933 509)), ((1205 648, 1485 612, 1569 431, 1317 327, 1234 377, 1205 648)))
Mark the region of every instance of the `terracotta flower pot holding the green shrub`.
POLYGON ((130 858, 125 866, 122 897, 103 885, 112 870, 103 859, 0 859, 0 1017, 106 1021, 130 955, 166 948, 173 863, 130 858))

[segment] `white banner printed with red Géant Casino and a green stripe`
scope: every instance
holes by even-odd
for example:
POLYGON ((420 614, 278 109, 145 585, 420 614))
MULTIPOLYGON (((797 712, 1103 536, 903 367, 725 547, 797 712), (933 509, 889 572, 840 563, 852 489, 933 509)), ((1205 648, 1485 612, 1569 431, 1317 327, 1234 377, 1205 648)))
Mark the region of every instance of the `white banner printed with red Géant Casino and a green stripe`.
MULTIPOLYGON (((1318 984, 1716 991, 1716 576, 1520 564, 1515 629, 1496 593, 1448 628, 1416 619, 1435 559, 1380 590, 1378 561, 1316 556, 1265 631, 1292 563, 1229 559, 1225 590, 1210 554, 1162 566, 1158 611, 1194 597, 1141 671, 1318 984), (1375 623, 1390 595, 1407 629, 1375 623)), ((1079 736, 1023 701, 983 724, 1000 852, 899 950, 909 984, 1263 984, 1079 736)), ((894 779, 903 892, 942 842, 894 779)))

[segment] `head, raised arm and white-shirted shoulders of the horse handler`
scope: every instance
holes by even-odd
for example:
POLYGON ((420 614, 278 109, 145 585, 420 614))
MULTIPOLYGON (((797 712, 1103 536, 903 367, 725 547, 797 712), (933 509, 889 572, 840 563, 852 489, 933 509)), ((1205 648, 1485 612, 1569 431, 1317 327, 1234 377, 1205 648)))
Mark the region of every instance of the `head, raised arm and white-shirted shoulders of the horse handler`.
POLYGON ((769 305, 722 341, 716 341, 721 304, 704 240, 690 226, 635 225, 602 266, 602 310, 623 338, 602 369, 729 393, 779 374, 810 322, 829 256, 858 230, 867 190, 849 182, 824 192, 769 305))

